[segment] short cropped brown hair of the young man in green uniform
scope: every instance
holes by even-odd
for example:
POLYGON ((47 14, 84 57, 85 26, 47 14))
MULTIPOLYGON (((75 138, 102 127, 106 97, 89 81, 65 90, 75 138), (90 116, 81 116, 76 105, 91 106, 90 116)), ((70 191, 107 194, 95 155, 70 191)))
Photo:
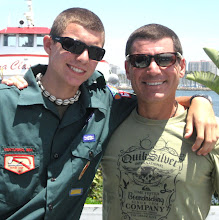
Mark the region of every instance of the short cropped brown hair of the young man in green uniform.
POLYGON ((61 36, 71 23, 76 23, 86 29, 97 31, 103 34, 105 42, 105 30, 100 18, 85 8, 69 8, 61 12, 53 22, 50 35, 61 36))

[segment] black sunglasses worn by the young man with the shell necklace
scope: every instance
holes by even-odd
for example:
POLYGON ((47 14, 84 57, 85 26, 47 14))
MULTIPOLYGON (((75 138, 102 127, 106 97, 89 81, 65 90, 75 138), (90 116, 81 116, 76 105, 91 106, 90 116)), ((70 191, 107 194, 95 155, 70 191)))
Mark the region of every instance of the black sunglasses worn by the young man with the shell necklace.
POLYGON ((88 46, 87 44, 75 40, 70 37, 58 37, 51 36, 52 39, 56 42, 59 42, 62 45, 64 50, 67 50, 74 54, 82 54, 85 49, 88 50, 89 58, 92 60, 100 61, 103 59, 105 50, 97 46, 88 46))

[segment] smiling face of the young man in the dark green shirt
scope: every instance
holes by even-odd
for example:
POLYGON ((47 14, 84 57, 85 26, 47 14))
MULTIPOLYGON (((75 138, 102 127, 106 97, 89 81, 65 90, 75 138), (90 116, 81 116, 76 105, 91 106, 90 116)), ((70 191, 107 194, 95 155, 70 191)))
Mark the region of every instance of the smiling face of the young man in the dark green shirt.
MULTIPOLYGON (((61 37, 70 37, 80 40, 87 45, 103 46, 103 34, 85 29, 83 26, 71 23, 67 26, 61 37)), ((89 59, 87 49, 82 54, 73 54, 62 48, 58 42, 51 38, 44 38, 45 50, 49 54, 48 74, 60 86, 78 88, 94 72, 98 61, 89 59)))

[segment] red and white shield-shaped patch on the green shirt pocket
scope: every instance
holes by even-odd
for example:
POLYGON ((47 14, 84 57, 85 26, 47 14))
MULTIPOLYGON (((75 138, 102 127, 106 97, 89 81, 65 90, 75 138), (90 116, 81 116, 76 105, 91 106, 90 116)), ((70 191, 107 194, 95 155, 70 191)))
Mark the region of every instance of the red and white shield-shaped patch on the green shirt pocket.
POLYGON ((5 154, 4 168, 16 174, 23 174, 35 168, 34 155, 5 154))

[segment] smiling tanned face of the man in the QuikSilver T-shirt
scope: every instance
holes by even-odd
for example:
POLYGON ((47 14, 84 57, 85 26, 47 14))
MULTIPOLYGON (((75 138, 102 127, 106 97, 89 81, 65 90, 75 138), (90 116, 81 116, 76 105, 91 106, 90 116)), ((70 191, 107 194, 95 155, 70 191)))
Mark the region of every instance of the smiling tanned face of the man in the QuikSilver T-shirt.
MULTIPOLYGON (((175 52, 171 38, 158 41, 137 39, 132 47, 132 54, 155 55, 165 52, 175 52)), ((184 76, 185 60, 177 61, 169 67, 159 67, 152 59, 150 66, 146 68, 133 67, 126 61, 125 67, 138 103, 155 103, 174 100, 179 78, 184 76)))

